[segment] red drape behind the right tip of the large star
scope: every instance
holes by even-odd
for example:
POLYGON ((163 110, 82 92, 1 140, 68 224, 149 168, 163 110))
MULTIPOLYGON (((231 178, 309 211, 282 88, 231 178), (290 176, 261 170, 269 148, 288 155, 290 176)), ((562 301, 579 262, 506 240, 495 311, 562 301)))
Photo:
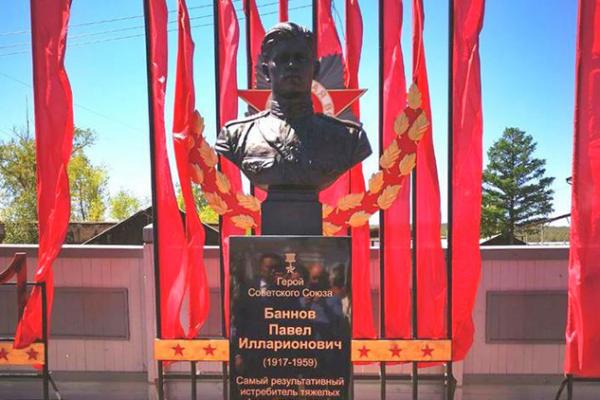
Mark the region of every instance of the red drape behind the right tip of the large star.
MULTIPOLYGON (((362 51, 363 24, 358 0, 346 0, 346 87, 358 89, 358 66, 362 51)), ((352 112, 360 119, 360 104, 352 105, 352 112)), ((350 170, 350 191, 364 193, 365 179, 362 164, 350 170)), ((352 337, 375 338, 373 307, 371 304, 370 277, 370 229, 365 224, 352 229, 352 300, 353 320, 352 337)))

